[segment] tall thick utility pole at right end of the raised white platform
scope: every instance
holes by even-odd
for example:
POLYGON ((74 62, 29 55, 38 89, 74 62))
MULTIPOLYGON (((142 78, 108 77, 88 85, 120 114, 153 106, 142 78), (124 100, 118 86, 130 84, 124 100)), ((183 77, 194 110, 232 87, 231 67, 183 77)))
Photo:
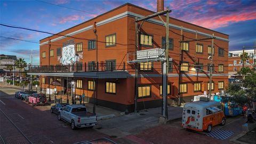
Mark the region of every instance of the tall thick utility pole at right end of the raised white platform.
POLYGON ((162 116, 168 119, 167 109, 167 86, 168 86, 168 70, 169 70, 169 7, 167 7, 166 13, 166 35, 165 35, 165 61, 163 61, 163 104, 162 104, 162 116))

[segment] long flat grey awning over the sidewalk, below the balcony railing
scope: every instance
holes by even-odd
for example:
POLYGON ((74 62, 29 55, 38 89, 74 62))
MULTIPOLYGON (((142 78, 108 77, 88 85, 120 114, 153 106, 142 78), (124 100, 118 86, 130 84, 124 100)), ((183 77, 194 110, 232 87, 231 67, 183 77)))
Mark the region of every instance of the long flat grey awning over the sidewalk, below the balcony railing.
POLYGON ((90 71, 76 73, 27 73, 38 76, 58 76, 58 77, 87 77, 87 78, 127 78, 127 71, 90 71))

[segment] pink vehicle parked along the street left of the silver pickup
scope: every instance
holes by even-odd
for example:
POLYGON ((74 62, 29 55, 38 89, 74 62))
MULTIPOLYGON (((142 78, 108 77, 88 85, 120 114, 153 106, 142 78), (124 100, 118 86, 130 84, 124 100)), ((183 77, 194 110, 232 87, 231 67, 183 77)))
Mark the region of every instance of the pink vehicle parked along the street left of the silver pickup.
POLYGON ((32 107, 35 105, 45 105, 47 103, 46 96, 43 93, 33 93, 28 97, 28 103, 32 103, 32 107))

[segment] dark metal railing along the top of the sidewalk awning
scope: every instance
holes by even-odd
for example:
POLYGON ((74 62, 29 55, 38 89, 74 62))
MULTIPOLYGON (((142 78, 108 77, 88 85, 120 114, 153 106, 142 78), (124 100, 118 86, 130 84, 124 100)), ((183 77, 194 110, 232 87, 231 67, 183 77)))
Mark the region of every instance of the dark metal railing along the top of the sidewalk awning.
POLYGON ((98 62, 98 63, 77 63, 74 65, 56 66, 32 66, 27 72, 30 73, 61 73, 61 72, 87 72, 87 71, 114 71, 125 70, 125 62, 98 62))

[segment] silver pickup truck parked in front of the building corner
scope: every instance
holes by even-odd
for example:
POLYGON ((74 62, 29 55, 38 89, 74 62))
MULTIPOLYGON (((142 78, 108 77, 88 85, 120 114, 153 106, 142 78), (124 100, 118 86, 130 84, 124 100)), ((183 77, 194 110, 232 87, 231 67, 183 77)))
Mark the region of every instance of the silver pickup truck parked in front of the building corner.
POLYGON ((67 105, 59 109, 58 119, 71 124, 75 130, 77 127, 93 127, 97 125, 97 115, 87 111, 82 105, 67 105))

